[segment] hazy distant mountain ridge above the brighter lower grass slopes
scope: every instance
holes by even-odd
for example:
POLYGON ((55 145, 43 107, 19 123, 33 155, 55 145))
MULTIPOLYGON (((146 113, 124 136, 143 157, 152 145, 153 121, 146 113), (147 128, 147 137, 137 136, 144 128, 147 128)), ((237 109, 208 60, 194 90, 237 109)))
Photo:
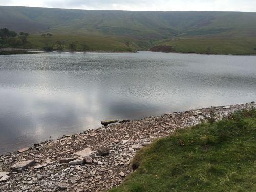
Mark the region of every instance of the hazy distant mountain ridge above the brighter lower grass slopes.
POLYGON ((129 38, 142 49, 173 38, 253 38, 256 13, 97 11, 0 6, 0 28, 28 33, 129 38), (140 41, 140 44, 138 43, 140 41), (142 45, 143 44, 143 45, 142 45))

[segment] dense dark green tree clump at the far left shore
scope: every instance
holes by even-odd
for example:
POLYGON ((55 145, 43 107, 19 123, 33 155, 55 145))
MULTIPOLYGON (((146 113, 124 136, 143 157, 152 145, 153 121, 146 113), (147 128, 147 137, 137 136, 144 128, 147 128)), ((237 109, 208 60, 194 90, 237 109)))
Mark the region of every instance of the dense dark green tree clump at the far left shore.
POLYGON ((4 44, 8 44, 10 46, 24 45, 27 42, 28 36, 28 33, 20 32, 17 34, 15 31, 2 28, 0 29, 0 47, 4 44))

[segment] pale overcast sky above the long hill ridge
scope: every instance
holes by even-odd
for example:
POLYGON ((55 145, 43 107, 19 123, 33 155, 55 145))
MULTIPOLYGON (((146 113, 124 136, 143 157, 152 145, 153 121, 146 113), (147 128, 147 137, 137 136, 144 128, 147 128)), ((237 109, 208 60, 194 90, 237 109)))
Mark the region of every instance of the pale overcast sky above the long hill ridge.
POLYGON ((0 5, 97 10, 256 12, 256 0, 0 0, 0 5))

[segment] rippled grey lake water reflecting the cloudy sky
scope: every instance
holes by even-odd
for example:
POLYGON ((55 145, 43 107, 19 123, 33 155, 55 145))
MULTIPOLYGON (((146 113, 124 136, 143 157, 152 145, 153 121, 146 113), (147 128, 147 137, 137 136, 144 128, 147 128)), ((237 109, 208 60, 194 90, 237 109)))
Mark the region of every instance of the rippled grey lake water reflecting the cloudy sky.
POLYGON ((251 102, 256 57, 175 53, 0 56, 0 154, 105 119, 251 102))

